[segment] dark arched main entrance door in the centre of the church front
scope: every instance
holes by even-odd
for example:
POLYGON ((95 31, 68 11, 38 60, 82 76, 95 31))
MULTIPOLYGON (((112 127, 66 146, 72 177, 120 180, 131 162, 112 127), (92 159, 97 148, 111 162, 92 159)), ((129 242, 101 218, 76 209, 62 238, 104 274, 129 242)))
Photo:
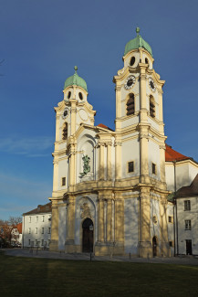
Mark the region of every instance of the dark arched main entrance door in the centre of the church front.
POLYGON ((82 223, 82 251, 93 251, 93 222, 90 218, 86 218, 82 223))

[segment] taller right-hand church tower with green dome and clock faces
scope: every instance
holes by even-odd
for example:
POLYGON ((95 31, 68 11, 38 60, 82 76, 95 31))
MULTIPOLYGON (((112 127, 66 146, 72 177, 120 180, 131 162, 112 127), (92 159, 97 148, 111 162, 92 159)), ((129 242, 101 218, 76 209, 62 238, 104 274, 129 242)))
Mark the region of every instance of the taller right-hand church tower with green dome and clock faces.
POLYGON ((139 255, 147 257, 151 255, 153 240, 158 240, 162 254, 167 255, 168 250, 166 137, 162 116, 162 86, 165 81, 160 80, 160 75, 153 69, 151 47, 140 36, 139 27, 136 33, 137 37, 125 47, 124 67, 113 80, 116 84, 118 142, 115 186, 131 186, 133 191, 140 193, 139 255), (157 225, 158 235, 152 236, 151 227, 157 225))

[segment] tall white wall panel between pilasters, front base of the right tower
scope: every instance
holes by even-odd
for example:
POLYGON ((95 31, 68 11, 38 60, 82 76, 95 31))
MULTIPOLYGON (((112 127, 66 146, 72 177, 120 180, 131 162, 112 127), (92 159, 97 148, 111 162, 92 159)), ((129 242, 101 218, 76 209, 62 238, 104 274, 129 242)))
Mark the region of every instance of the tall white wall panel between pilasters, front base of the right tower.
POLYGON ((124 200, 124 240, 125 253, 138 252, 138 198, 124 200))

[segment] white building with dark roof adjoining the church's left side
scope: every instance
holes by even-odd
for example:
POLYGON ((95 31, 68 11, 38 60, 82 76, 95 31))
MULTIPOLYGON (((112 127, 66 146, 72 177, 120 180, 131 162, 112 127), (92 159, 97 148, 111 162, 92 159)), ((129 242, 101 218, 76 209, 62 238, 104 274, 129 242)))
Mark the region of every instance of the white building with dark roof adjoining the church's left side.
POLYGON ((23 214, 23 248, 47 249, 51 239, 51 203, 23 214))

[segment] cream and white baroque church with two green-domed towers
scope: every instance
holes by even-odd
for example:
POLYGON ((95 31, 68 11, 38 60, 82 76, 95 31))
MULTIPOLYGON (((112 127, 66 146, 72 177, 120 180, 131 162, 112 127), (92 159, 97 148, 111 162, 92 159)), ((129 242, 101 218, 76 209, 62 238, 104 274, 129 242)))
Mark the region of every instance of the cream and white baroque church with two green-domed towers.
POLYGON ((168 197, 179 188, 175 168, 190 168, 189 179, 181 182, 189 186, 198 165, 188 157, 176 160, 165 143, 165 81, 153 69, 151 46, 138 27, 136 35, 113 78, 115 131, 94 125, 96 111, 77 67, 65 81, 63 101, 55 108, 50 250, 142 258, 173 254, 175 210, 168 197))

